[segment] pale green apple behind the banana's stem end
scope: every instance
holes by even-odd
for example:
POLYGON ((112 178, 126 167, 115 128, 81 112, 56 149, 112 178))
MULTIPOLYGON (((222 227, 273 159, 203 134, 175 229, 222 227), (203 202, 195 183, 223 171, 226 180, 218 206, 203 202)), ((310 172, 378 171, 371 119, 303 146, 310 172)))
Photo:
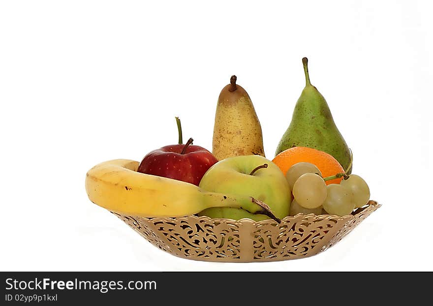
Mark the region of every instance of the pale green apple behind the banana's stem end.
MULTIPOLYGON (((205 173, 199 186, 212 192, 251 196, 266 203, 280 219, 289 215, 290 186, 278 166, 260 155, 234 156, 218 161, 205 173)), ((209 208, 199 215, 234 220, 269 219, 264 214, 229 207, 209 208)))

